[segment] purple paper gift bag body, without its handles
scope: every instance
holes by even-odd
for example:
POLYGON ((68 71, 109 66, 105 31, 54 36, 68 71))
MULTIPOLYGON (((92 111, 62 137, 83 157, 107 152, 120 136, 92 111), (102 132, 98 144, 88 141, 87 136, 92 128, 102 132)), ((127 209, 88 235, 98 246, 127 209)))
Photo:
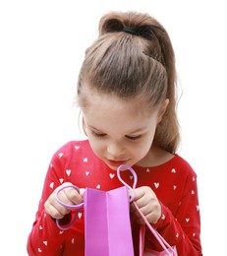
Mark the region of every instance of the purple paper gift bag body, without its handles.
POLYGON ((85 255, 134 256, 126 187, 85 190, 85 255))

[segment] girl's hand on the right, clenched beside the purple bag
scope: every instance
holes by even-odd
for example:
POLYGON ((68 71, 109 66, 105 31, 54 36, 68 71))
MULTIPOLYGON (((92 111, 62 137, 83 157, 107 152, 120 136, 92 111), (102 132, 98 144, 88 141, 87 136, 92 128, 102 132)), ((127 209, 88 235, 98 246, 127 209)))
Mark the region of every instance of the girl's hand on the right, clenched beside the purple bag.
MULTIPOLYGON (((134 202, 138 205, 142 214, 150 224, 156 224, 161 217, 161 205, 157 200, 155 193, 150 187, 140 187, 135 189, 136 197, 134 202)), ((144 224, 142 217, 134 204, 131 204, 131 212, 139 218, 138 223, 144 224)))

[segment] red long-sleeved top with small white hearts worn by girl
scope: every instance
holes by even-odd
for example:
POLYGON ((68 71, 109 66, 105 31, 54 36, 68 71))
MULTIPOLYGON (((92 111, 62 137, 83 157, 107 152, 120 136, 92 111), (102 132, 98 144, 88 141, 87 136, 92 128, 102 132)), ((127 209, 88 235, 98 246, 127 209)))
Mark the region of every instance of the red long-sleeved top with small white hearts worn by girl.
MULTIPOLYGON (((161 203, 162 217, 153 226, 168 243, 176 245, 179 256, 202 255, 197 174, 190 164, 176 155, 158 166, 135 165, 133 168, 138 175, 137 186, 149 186, 161 203)), ((132 185, 130 172, 123 171, 121 176, 132 185)), ((46 174, 38 211, 28 235, 28 255, 85 255, 83 214, 79 215, 71 229, 61 231, 44 210, 49 195, 67 181, 80 188, 104 191, 122 186, 116 171, 94 155, 88 141, 74 141, 64 145, 54 154, 46 174)), ((132 217, 135 251, 138 251, 139 225, 134 221, 132 217)), ((148 230, 145 246, 161 250, 148 230)))

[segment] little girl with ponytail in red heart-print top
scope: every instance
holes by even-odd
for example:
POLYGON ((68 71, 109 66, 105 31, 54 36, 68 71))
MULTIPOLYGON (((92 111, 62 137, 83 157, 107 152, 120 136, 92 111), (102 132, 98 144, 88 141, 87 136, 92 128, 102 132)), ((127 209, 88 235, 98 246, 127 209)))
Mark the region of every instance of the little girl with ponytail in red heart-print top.
MULTIPOLYGON (((62 232, 74 212, 55 200, 56 189, 67 204, 83 203, 85 187, 112 190, 122 186, 121 164, 138 175, 135 202, 178 255, 202 255, 197 174, 176 152, 175 57, 168 33, 153 18, 135 12, 112 12, 99 23, 99 36, 85 51, 78 81, 78 103, 87 140, 65 144, 50 162, 28 255, 85 255, 84 215, 62 232)), ((131 184, 129 171, 124 180, 131 184)), ((135 255, 142 218, 131 206, 135 255)), ((147 231, 145 248, 161 251, 147 231)), ((102 256, 102 255, 100 255, 102 256)), ((105 255, 103 255, 105 256, 105 255)))

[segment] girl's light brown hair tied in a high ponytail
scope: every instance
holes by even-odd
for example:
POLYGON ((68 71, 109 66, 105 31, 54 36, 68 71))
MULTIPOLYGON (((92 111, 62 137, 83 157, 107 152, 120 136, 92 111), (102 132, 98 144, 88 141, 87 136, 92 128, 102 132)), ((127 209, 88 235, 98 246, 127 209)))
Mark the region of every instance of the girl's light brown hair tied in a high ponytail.
POLYGON ((83 105, 86 83, 98 93, 121 98, 142 96, 150 107, 169 98, 154 144, 175 153, 179 144, 176 114, 175 56, 165 29, 147 14, 111 12, 99 23, 99 36, 86 49, 79 75, 78 99, 83 105))

